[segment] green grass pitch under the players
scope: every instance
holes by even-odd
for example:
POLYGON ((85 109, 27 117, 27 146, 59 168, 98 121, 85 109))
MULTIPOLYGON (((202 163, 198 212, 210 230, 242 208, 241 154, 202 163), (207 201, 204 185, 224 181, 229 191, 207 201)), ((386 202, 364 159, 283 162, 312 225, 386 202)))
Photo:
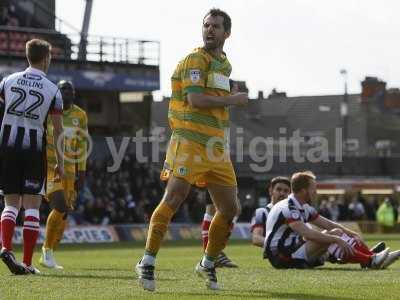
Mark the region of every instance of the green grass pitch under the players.
MULTIPOLYGON (((399 236, 368 236, 400 248, 399 236)), ((62 246, 64 271, 40 268, 40 276, 12 276, 0 265, 0 299, 399 299, 400 262, 388 270, 365 271, 357 265, 326 264, 315 270, 275 270, 260 249, 231 241, 226 253, 239 269, 218 270, 223 290, 206 290, 193 272, 200 241, 166 243, 157 264, 157 292, 142 291, 133 266, 142 244, 62 246)), ((20 249, 16 251, 21 258, 20 249)), ((35 261, 39 252, 35 254, 35 261)))

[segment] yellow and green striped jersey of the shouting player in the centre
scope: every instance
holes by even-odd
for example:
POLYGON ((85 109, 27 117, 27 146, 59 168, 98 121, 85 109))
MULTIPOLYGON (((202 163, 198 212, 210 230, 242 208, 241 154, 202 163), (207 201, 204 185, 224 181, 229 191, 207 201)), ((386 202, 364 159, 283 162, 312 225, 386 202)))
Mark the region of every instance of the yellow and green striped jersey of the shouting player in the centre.
POLYGON ((168 119, 173 135, 206 145, 211 138, 224 148, 228 139, 229 111, 227 107, 197 108, 189 104, 189 93, 212 96, 230 94, 229 76, 232 67, 225 55, 214 57, 197 48, 179 62, 171 78, 172 96, 168 119))

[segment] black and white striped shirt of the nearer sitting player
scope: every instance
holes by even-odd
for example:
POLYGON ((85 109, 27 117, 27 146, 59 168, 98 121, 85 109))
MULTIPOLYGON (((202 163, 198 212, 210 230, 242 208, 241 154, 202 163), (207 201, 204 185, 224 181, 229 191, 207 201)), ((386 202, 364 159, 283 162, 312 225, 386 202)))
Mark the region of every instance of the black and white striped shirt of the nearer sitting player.
POLYGON ((301 236, 289 224, 296 221, 312 222, 318 212, 309 204, 301 205, 293 194, 274 205, 268 214, 264 250, 267 256, 290 255, 301 241, 301 236))

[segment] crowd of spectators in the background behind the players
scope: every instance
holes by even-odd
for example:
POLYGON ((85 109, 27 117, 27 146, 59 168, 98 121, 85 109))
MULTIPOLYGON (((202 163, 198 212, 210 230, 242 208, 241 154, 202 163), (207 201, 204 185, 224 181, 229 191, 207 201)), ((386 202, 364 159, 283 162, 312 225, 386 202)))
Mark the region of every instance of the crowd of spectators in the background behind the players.
MULTIPOLYGON (((86 182, 78 195, 74 211, 70 213, 70 223, 107 225, 149 221, 165 188, 165 183, 159 178, 159 168, 138 163, 134 155, 125 156, 118 172, 108 172, 109 164, 111 162, 107 160, 88 161, 86 182)), ((242 214, 239 221, 249 222, 254 210, 268 202, 265 196, 262 194, 263 203, 252 201, 250 195, 240 197, 242 214)), ((174 222, 201 222, 206 206, 206 191, 192 188, 188 198, 174 216, 174 222)), ((393 209, 393 219, 397 220, 400 209, 398 203, 391 197, 383 202, 381 200, 376 196, 363 197, 361 193, 353 197, 322 196, 315 206, 322 216, 334 221, 376 221, 377 211, 384 202, 386 211, 393 209)), ((43 201, 42 224, 46 222, 49 212, 48 203, 43 201)))

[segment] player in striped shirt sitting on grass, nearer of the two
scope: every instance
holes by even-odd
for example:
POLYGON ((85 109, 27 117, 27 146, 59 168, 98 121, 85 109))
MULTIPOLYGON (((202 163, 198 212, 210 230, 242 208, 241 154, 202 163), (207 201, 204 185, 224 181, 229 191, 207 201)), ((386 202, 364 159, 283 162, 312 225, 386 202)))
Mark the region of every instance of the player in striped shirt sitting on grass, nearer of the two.
POLYGON ((275 268, 313 268, 330 256, 343 263, 359 263, 371 269, 387 268, 400 251, 371 252, 360 236, 341 224, 319 216, 310 203, 316 196, 312 172, 295 173, 292 194, 271 209, 266 226, 264 257, 275 268), (307 226, 311 223, 325 230, 307 226))

